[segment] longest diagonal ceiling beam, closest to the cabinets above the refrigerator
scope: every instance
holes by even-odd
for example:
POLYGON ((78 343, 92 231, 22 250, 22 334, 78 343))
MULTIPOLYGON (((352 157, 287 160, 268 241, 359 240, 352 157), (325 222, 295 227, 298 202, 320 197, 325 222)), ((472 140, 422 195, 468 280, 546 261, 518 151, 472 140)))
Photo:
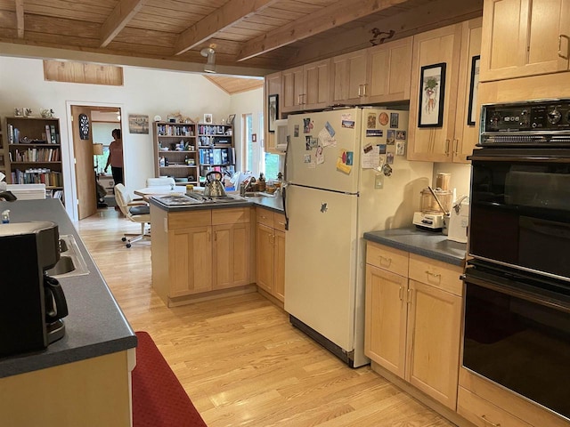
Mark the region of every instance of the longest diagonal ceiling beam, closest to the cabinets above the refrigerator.
POLYGON ((407 1, 409 0, 345 0, 337 2, 323 8, 319 12, 311 13, 300 20, 291 22, 289 25, 254 38, 244 44, 237 60, 248 60, 262 53, 271 52, 287 44, 303 40, 407 1))

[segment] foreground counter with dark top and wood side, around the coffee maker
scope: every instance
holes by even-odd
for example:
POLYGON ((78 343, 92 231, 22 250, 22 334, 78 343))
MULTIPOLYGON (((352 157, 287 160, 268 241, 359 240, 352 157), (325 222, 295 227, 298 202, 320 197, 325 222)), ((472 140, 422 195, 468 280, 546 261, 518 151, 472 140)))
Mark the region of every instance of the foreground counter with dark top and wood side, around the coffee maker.
POLYGON ((0 202, 0 209, 10 209, 12 222, 57 223, 60 236, 75 238, 89 271, 59 278, 69 308, 61 340, 0 358, 2 424, 129 426, 136 336, 61 202, 0 202))

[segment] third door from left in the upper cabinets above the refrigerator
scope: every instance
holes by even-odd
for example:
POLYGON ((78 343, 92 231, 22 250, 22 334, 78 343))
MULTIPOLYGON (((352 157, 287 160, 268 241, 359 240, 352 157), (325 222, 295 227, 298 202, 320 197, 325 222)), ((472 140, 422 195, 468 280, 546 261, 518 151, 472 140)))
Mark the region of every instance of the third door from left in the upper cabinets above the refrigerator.
POLYGON ((366 91, 365 49, 332 59, 332 103, 360 103, 366 91))

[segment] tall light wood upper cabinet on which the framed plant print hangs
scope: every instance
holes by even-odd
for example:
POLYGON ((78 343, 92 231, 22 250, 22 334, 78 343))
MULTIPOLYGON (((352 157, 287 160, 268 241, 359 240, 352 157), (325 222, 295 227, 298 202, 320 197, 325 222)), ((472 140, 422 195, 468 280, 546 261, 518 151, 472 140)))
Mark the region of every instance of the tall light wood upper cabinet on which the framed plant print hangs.
MULTIPOLYGON (((467 163, 477 142, 478 102, 471 102, 471 74, 474 57, 481 50, 481 19, 437 28, 414 36, 411 68, 410 123, 408 159, 430 162, 467 163), (420 111, 426 114, 425 100, 419 105, 423 90, 422 68, 445 64, 443 123, 437 127, 420 126, 420 111), (476 109, 475 124, 468 124, 469 104, 476 109)), ((439 98, 438 98, 439 99, 439 98)), ((423 124, 423 122, 421 122, 423 124)))

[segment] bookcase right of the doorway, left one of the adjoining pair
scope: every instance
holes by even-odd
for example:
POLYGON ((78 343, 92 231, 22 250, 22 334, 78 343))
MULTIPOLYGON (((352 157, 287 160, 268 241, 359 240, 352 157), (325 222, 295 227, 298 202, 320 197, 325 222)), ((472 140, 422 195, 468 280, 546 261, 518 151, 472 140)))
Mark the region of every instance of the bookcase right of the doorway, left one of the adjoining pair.
POLYGON ((154 122, 155 176, 169 176, 177 184, 198 183, 196 124, 154 122))

